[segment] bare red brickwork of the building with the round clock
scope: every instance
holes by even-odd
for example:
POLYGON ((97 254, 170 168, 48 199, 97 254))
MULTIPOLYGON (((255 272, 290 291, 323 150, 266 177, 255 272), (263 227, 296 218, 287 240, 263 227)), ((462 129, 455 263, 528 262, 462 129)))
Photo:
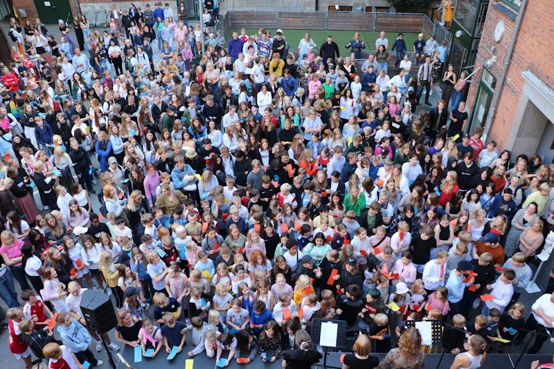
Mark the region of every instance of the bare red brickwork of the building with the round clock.
MULTIPOLYGON (((506 82, 499 100, 497 113, 492 120, 492 129, 489 139, 497 141, 501 150, 504 148, 510 149, 510 147, 505 147, 505 144, 521 96, 521 89, 524 85, 521 73, 524 71, 531 71, 537 75, 544 84, 554 89, 554 76, 551 73, 551 71, 554 70, 554 58, 551 53, 554 48, 554 38, 552 37, 553 28, 551 23, 553 17, 554 8, 548 0, 529 0, 524 13, 523 23, 521 24, 521 29, 517 37, 515 51, 508 69, 506 82), (517 93, 517 96, 506 86, 517 93)), ((493 55, 492 47, 497 47, 494 55, 497 56, 498 60, 492 66, 492 73, 497 78, 502 74, 514 28, 515 21, 508 19, 508 17, 492 6, 489 7, 487 20, 482 33, 483 36, 479 44, 479 55, 483 60, 488 60, 493 55), (502 19, 506 24, 506 32, 500 42, 494 42, 494 26, 499 19, 502 19)), ((483 62, 478 58, 476 67, 481 65, 483 65, 483 62)), ((480 77, 481 73, 479 73, 479 76, 474 76, 472 80, 477 80, 480 77)), ((477 83, 472 84, 470 93, 467 97, 468 105, 471 107, 474 104, 477 87, 477 83)), ((498 93, 498 88, 495 93, 498 93)), ((542 132, 537 132, 537 134, 542 134, 542 132)))

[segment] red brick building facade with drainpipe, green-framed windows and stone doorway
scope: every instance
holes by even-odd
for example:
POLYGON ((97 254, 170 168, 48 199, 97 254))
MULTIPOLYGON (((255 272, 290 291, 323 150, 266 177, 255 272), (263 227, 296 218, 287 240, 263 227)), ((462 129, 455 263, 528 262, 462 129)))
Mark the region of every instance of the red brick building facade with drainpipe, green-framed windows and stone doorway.
POLYGON ((471 84, 467 96, 472 127, 485 126, 487 139, 497 141, 501 150, 528 156, 538 152, 548 163, 554 158, 553 17, 548 0, 492 4, 474 66, 481 69, 472 77, 479 82, 471 84), (518 17, 522 17, 519 31, 518 17), (512 39, 515 46, 510 57, 512 39))

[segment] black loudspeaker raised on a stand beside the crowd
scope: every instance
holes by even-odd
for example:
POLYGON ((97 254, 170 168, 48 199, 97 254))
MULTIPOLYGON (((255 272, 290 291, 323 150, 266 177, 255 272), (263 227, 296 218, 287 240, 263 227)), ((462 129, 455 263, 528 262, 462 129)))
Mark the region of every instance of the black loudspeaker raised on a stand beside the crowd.
POLYGON ((107 294, 87 289, 82 294, 81 311, 92 330, 105 334, 117 325, 116 311, 107 294))

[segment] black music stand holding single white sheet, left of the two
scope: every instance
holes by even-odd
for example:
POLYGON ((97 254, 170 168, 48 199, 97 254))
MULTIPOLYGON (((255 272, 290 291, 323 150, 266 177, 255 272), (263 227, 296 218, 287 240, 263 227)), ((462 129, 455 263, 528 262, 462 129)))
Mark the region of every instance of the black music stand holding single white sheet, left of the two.
POLYGON ((310 338, 316 345, 321 345, 324 349, 323 368, 338 368, 337 366, 327 366, 328 348, 343 348, 346 342, 346 321, 333 319, 314 319, 310 330, 310 338))

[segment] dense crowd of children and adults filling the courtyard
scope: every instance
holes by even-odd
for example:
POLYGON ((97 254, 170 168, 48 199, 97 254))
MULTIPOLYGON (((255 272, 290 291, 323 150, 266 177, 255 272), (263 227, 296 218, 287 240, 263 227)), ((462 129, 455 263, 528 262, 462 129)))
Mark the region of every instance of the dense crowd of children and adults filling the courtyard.
POLYGON ((57 44, 38 19, 26 37, 12 19, 0 297, 17 359, 102 365, 80 309, 87 289, 114 299, 116 341, 151 357, 188 339, 186 356, 224 366, 261 356, 305 368, 321 359, 314 318, 362 332, 345 368, 422 368, 438 347, 421 345, 421 320, 445 323, 452 368, 479 367, 502 352, 497 339, 517 345, 527 330, 528 352, 542 347, 554 289, 527 320, 518 300, 554 224, 554 164, 485 147, 481 127, 465 133, 466 76, 443 71, 444 44, 419 35, 411 75, 398 35, 390 78, 383 32, 359 75, 359 33, 351 56, 309 34, 295 55, 282 30, 233 32, 226 45, 186 31, 184 3, 179 25, 155 6, 114 8, 104 37, 76 17, 78 47, 64 21, 57 44), (437 106, 415 114, 441 75, 437 106), (378 363, 372 350, 388 354, 378 363))

